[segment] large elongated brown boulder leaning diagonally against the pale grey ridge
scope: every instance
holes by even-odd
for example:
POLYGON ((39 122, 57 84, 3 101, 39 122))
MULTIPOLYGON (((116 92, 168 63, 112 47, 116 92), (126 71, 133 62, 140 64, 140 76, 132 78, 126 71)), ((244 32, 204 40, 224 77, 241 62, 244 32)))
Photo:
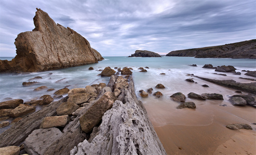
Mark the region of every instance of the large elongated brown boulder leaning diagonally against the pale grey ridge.
POLYGON ((105 92, 104 95, 92 104, 87 112, 79 118, 82 130, 86 133, 91 132, 93 127, 98 125, 101 121, 103 114, 107 110, 110 110, 115 100, 116 97, 112 92, 105 92))

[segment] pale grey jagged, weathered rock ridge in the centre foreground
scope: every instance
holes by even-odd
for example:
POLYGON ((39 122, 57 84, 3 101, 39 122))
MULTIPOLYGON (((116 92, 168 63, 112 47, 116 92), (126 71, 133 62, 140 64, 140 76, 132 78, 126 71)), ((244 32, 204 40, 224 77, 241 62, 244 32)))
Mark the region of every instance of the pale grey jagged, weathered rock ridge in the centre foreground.
MULTIPOLYGON (((109 86, 112 84, 109 83, 109 86)), ((124 101, 116 100, 106 111, 97 135, 71 150, 71 154, 166 154, 130 80, 124 101)))

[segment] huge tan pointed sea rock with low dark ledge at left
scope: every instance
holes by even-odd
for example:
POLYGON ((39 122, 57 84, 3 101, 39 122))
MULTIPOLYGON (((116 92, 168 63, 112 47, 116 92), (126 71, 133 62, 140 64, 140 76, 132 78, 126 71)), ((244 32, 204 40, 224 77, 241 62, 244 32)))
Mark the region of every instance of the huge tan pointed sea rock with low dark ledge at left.
MULTIPOLYGON (((37 8, 36 8, 37 9, 37 8)), ((15 39, 16 57, 0 60, 0 72, 37 72, 98 63, 103 57, 71 28, 56 24, 37 9, 32 32, 15 39)))

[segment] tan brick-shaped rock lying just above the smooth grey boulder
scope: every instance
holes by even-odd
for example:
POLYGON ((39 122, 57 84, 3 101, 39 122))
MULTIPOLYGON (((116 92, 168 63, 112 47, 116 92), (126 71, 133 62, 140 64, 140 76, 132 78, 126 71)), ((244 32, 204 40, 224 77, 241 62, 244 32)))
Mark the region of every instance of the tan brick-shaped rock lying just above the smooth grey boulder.
POLYGON ((40 128, 65 127, 68 122, 68 118, 69 115, 45 117, 40 128))

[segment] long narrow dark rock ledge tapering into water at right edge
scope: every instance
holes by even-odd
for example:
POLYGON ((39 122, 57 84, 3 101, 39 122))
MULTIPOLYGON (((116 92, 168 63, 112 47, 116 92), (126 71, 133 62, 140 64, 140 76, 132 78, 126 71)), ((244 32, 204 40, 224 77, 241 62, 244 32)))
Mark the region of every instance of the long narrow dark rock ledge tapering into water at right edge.
POLYGON ((255 82, 239 83, 234 80, 214 80, 214 79, 208 79, 208 78, 199 77, 199 76, 196 76, 196 77, 198 77, 199 79, 208 81, 208 82, 212 82, 212 83, 221 85, 221 86, 231 87, 234 89, 248 91, 248 92, 252 92, 253 94, 256 94, 256 83, 255 82))

